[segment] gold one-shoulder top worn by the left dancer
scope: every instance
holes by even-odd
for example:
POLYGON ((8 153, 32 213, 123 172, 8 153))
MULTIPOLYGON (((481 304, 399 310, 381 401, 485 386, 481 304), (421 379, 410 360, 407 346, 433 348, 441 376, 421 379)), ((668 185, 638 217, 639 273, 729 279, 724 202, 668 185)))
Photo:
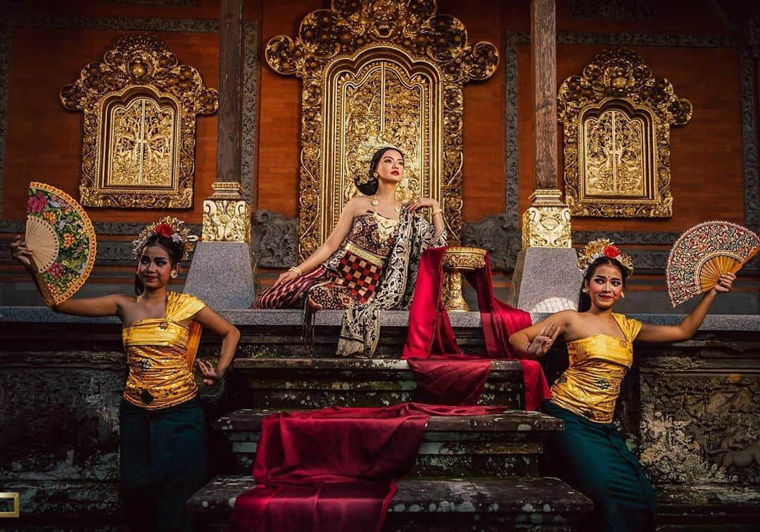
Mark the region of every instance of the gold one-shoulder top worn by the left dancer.
POLYGON ((186 293, 169 292, 166 318, 134 321, 122 331, 129 375, 124 398, 148 410, 173 407, 195 397, 198 386, 188 367, 188 328, 180 323, 204 308, 186 293))

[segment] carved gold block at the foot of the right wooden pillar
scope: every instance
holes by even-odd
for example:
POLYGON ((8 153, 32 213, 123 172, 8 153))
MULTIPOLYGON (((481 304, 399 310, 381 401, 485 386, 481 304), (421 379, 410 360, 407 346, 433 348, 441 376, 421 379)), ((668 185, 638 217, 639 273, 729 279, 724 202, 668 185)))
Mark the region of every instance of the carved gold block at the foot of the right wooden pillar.
POLYGON ((570 210, 559 190, 537 189, 530 195, 532 204, 523 213, 522 247, 572 247, 570 210))

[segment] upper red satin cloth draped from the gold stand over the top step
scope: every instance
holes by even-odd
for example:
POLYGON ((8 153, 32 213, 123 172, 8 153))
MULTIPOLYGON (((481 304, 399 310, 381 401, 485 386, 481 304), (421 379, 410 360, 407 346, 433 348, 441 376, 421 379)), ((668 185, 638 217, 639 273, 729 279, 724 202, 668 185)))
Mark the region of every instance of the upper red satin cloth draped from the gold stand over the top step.
MULTIPOLYGON (((467 355, 457 344, 454 329, 441 301, 442 261, 447 248, 428 248, 420 259, 420 271, 409 311, 404 355, 417 385, 432 402, 475 404, 486 385, 490 359, 518 359, 509 335, 530 327, 530 314, 493 296, 491 266, 464 275, 477 292, 480 321, 486 339, 486 356, 467 355)), ((525 382, 525 409, 538 410, 550 397, 546 377, 537 361, 520 359, 525 382)))

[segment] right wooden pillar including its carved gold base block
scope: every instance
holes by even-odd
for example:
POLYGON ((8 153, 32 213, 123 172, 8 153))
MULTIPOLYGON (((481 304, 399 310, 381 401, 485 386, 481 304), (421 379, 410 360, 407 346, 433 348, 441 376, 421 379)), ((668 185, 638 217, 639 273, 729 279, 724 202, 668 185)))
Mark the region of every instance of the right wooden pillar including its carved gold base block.
POLYGON ((523 214, 523 248, 569 248, 570 211, 557 188, 555 0, 530 2, 530 78, 534 87, 534 179, 523 214))

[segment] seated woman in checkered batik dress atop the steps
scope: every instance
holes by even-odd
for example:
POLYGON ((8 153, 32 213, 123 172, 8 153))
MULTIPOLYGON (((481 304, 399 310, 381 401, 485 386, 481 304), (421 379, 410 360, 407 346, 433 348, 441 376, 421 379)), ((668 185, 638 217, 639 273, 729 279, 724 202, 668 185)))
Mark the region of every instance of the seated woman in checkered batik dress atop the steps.
POLYGON ((396 188, 404 179, 404 155, 377 150, 366 176, 354 179, 363 196, 344 207, 333 232, 306 261, 280 274, 254 302, 258 309, 306 309, 306 322, 321 309, 347 309, 338 342, 341 356, 372 356, 379 310, 410 305, 420 255, 445 245, 442 209, 432 198, 403 205, 396 188), (417 211, 432 208, 432 226, 417 211))

